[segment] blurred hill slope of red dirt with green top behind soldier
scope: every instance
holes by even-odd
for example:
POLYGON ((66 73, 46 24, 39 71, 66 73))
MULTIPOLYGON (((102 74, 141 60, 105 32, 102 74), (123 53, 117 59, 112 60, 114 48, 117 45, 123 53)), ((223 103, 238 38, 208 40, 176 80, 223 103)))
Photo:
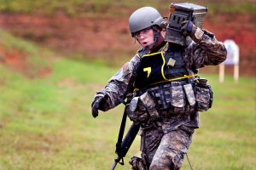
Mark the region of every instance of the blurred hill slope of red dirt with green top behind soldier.
MULTIPOLYGON (((182 1, 173 1, 177 2, 182 1)), ((0 27, 73 59, 104 59, 110 60, 109 65, 121 66, 138 48, 130 36, 127 20, 135 8, 145 5, 169 15, 167 1, 53 0, 46 5, 39 0, 12 0, 2 3, 0 27)), ((241 75, 255 77, 255 0, 207 0, 201 5, 209 8, 204 28, 214 32, 220 41, 234 39, 241 49, 241 75)), ((217 73, 217 68, 207 71, 217 73)))

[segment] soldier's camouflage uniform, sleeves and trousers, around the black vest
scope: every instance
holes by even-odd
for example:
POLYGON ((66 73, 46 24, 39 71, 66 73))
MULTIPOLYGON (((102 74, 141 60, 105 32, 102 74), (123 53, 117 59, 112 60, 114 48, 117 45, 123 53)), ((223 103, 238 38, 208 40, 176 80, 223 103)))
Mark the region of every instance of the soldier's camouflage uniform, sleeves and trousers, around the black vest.
MULTIPOLYGON (((181 54, 183 64, 190 75, 195 74, 197 69, 205 65, 218 65, 226 58, 224 43, 218 42, 211 32, 206 30, 197 31, 193 40, 194 42, 183 48, 181 54)), ((171 44, 167 44, 166 49, 170 48, 170 46, 171 44)), ((96 93, 96 97, 100 95, 107 96, 103 111, 108 111, 119 105, 119 99, 131 96, 134 84, 137 81, 137 71, 144 54, 148 54, 148 51, 146 49, 140 50, 130 62, 126 63, 109 80, 102 91, 96 93)), ((139 106, 137 115, 132 115, 134 113, 132 111, 130 114, 132 121, 141 124, 141 150, 143 159, 148 161, 147 168, 150 165, 150 169, 179 169, 183 163, 183 156, 189 148, 194 129, 199 127, 198 111, 201 111, 195 108, 193 101, 188 101, 189 95, 194 96, 194 92, 192 94, 191 92, 183 94, 182 98, 177 95, 176 90, 178 88, 175 87, 182 87, 186 84, 188 84, 187 79, 160 83, 155 86, 145 87, 137 94, 137 97, 141 98, 145 92, 148 92, 153 100, 156 101, 154 107, 145 108, 139 106), (171 96, 172 99, 168 99, 168 96, 171 96), (172 105, 171 108, 168 107, 170 104, 172 105), (148 116, 147 109, 152 113, 157 110, 156 114, 153 116, 149 114, 148 116)), ((192 88, 195 88, 194 85, 192 88)), ((201 90, 201 88, 199 89, 201 90)), ((144 99, 133 99, 131 101, 136 105, 140 105, 140 102, 143 103, 144 99)), ((196 102, 200 103, 200 100, 196 100, 196 102)), ((150 102, 144 103, 147 105, 150 102)), ((135 111, 134 108, 133 110, 135 111)))

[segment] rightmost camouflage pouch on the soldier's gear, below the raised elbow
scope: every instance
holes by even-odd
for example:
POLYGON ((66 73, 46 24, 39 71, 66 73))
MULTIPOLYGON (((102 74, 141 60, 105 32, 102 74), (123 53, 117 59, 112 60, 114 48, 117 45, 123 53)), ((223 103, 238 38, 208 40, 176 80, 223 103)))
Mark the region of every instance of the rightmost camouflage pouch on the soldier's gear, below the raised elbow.
POLYGON ((213 93, 207 79, 201 79, 195 83, 195 100, 197 111, 207 111, 212 107, 213 93))

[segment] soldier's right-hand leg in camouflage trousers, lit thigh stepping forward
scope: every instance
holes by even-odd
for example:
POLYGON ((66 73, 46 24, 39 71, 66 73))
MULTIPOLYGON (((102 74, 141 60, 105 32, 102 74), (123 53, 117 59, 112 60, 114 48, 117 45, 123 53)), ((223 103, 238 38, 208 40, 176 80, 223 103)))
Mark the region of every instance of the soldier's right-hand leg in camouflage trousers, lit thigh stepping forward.
POLYGON ((180 169, 183 164, 184 154, 187 153, 191 143, 193 133, 193 128, 182 126, 177 128, 177 130, 164 134, 149 169, 180 169))

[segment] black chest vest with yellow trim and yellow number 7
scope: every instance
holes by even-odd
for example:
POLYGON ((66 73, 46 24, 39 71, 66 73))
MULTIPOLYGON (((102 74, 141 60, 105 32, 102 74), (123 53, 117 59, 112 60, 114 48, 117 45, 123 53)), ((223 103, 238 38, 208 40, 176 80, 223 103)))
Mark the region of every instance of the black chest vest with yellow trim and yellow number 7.
POLYGON ((135 88, 142 89, 188 75, 182 53, 183 47, 175 44, 166 44, 160 51, 151 54, 139 52, 141 63, 137 70, 135 88), (175 60, 173 65, 167 65, 170 59, 175 60))

